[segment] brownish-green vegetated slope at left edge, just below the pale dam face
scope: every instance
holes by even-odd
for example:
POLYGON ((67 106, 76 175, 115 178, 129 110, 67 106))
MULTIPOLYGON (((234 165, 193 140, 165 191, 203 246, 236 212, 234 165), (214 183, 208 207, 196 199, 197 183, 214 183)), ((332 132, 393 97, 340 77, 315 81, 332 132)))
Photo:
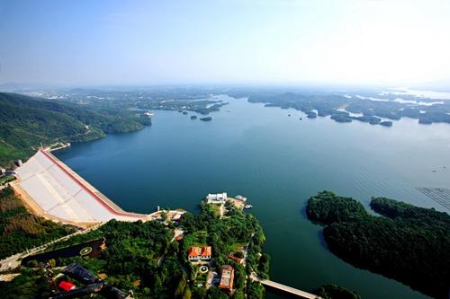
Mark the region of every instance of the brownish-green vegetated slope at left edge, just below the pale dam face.
POLYGON ((69 233, 75 233, 72 226, 31 215, 12 188, 0 190, 0 259, 69 233))

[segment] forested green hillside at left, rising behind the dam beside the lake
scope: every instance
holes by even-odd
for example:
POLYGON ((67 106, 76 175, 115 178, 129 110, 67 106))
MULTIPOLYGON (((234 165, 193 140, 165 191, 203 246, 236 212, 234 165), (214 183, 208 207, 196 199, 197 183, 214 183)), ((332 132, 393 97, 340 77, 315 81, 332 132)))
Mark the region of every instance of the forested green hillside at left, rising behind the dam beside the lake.
POLYGON ((147 117, 130 111, 92 110, 73 103, 0 92, 0 165, 28 158, 40 144, 89 141, 150 123, 147 117))

